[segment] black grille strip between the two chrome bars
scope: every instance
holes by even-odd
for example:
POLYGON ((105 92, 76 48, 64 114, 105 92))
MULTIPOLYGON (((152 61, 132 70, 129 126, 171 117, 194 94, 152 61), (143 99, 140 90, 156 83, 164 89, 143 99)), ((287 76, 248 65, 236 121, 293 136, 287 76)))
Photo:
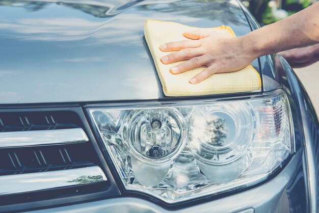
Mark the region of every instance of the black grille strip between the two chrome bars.
POLYGON ((95 156, 85 156, 84 150, 88 150, 86 144, 0 149, 0 156, 7 156, 6 161, 0 164, 0 175, 70 169, 95 164, 95 156), (76 153, 76 150, 81 153, 76 153), (74 153, 76 161, 73 161, 74 153))

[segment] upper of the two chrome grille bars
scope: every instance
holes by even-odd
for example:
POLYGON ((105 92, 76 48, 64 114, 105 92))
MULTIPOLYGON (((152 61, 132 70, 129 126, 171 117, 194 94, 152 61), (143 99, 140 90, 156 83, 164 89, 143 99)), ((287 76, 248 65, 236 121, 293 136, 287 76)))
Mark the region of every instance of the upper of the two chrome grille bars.
POLYGON ((0 148, 56 145, 89 141, 82 128, 0 132, 0 148))

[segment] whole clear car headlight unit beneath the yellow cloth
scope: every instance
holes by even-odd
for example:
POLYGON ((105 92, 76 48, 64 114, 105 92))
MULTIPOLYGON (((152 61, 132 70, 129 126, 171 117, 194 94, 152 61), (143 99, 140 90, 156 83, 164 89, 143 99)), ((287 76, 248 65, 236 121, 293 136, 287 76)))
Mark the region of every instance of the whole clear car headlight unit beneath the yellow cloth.
POLYGON ((293 148, 282 90, 251 98, 87 110, 126 190, 168 203, 262 181, 293 148))

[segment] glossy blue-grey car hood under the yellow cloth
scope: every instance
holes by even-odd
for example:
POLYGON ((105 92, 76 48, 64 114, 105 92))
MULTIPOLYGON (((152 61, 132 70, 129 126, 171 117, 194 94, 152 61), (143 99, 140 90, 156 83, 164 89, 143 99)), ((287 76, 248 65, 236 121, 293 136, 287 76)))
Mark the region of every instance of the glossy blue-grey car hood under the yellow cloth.
POLYGON ((0 104, 168 99, 146 19, 251 31, 235 0, 0 1, 0 104))

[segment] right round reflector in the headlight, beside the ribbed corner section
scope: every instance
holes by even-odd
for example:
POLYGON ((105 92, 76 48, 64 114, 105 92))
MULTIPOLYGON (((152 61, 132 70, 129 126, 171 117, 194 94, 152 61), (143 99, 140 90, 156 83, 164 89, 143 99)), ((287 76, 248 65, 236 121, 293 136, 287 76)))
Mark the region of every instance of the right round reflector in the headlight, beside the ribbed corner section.
POLYGON ((227 164, 244 154, 257 130, 249 103, 211 104, 197 107, 190 116, 189 145, 194 154, 210 164, 227 164))

